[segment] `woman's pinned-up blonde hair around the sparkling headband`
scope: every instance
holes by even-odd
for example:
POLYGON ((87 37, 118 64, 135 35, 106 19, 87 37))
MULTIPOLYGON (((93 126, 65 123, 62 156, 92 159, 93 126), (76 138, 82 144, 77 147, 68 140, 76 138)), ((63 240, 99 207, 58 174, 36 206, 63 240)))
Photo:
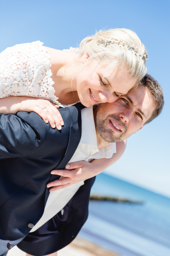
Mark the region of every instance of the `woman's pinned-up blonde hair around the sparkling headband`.
POLYGON ((147 51, 135 32, 126 28, 115 28, 100 30, 94 36, 84 38, 79 46, 79 58, 87 52, 89 60, 99 64, 107 64, 107 67, 115 65, 125 65, 132 78, 137 79, 137 83, 145 76, 147 69, 145 61, 147 51), (124 43, 120 43, 124 42, 124 43), (102 46, 102 42, 112 42, 107 47, 102 46), (127 47, 124 47, 126 44, 127 47), (128 44, 132 48, 128 49, 128 44))

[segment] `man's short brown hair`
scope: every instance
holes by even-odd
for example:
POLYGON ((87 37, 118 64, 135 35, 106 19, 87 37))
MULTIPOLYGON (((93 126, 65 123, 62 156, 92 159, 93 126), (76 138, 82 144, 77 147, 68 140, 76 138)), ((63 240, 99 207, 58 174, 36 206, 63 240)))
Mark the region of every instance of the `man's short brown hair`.
POLYGON ((156 103, 156 108, 153 111, 152 116, 145 122, 145 124, 148 124, 161 113, 164 106, 164 94, 160 84, 148 74, 144 76, 144 78, 140 81, 140 84, 143 84, 147 88, 156 103))

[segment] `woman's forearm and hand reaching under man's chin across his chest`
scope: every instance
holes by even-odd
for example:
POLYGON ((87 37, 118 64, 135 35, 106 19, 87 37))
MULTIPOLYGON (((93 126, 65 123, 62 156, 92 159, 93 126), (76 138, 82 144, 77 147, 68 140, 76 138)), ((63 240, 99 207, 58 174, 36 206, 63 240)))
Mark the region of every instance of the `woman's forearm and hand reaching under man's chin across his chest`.
POLYGON ((67 170, 53 170, 51 174, 63 176, 59 180, 52 181, 47 184, 50 192, 59 190, 77 183, 87 180, 95 175, 103 172, 107 167, 114 164, 123 154, 126 147, 126 140, 116 142, 116 153, 111 158, 94 159, 91 163, 86 161, 78 161, 66 165, 67 170), (70 167, 69 167, 70 166, 70 167))

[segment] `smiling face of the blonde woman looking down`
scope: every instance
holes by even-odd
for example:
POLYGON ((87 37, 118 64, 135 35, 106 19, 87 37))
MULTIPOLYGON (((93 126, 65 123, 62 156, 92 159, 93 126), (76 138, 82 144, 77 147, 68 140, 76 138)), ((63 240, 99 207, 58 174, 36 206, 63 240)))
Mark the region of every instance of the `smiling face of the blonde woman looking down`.
POLYGON ((79 99, 86 107, 101 102, 112 103, 126 94, 136 82, 124 66, 107 68, 91 61, 84 65, 76 79, 79 99))

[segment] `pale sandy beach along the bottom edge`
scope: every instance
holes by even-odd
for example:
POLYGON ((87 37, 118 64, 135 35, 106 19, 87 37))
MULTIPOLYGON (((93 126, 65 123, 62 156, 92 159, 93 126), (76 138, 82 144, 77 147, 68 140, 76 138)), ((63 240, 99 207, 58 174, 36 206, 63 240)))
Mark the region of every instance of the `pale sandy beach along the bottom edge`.
MULTIPOLYGON (((26 253, 14 246, 7 256, 26 256, 26 253)), ((57 256, 121 256, 120 254, 106 251, 96 244, 80 238, 75 238, 74 241, 58 251, 57 256)))

